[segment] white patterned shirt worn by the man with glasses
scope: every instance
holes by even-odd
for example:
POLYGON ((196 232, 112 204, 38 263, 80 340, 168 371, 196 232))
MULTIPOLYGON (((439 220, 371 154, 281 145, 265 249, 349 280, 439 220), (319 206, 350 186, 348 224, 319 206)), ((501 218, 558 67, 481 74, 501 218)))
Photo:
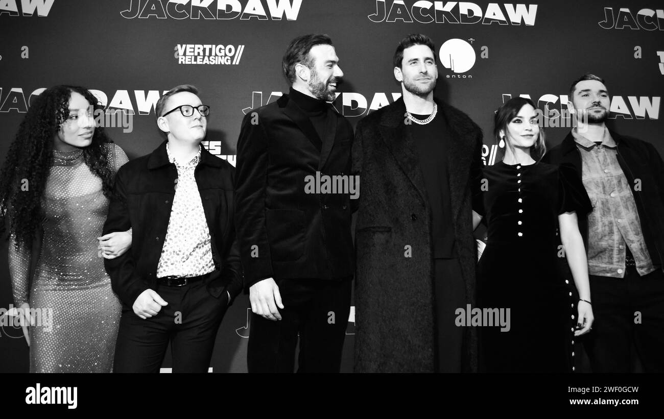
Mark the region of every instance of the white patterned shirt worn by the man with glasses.
POLYGON ((190 162, 180 164, 171 155, 169 162, 177 168, 177 184, 166 238, 157 265, 157 278, 163 276, 199 276, 214 270, 210 231, 203 211, 201 194, 194 170, 201 161, 201 146, 190 162))

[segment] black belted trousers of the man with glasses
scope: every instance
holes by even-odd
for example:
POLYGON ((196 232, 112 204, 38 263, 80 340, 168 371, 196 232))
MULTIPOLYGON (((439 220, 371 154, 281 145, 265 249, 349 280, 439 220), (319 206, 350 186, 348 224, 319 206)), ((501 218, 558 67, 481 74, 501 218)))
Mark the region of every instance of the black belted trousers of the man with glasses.
POLYGON ((123 306, 113 371, 158 373, 170 341, 173 373, 207 373, 228 294, 214 298, 203 280, 155 291, 168 303, 157 316, 143 320, 123 306))

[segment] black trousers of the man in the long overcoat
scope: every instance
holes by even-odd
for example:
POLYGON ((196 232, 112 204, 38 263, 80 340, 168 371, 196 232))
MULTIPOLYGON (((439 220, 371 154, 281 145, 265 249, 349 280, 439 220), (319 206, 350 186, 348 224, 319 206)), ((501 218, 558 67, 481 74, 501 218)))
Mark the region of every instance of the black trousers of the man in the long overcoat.
POLYGON ((434 259, 437 373, 460 373, 464 327, 456 326, 456 310, 465 310, 465 283, 459 259, 434 259))

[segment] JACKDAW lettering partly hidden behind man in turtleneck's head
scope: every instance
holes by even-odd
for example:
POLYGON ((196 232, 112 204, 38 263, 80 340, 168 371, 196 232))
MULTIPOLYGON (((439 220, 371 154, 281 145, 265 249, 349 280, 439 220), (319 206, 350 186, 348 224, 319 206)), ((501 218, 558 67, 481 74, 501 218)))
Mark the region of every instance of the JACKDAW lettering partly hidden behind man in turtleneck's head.
MULTIPOLYGON (((242 109, 242 113, 246 115, 250 111, 257 109, 263 105, 268 105, 279 99, 284 93, 281 91, 272 91, 266 101, 263 100, 262 91, 252 91, 252 104, 250 107, 242 109)), ((337 112, 345 117, 360 117, 376 111, 383 106, 389 105, 401 97, 401 93, 374 93, 371 97, 371 103, 367 97, 361 93, 343 92, 336 93, 337 98, 332 102, 332 106, 337 109, 337 112), (339 96, 341 96, 341 103, 339 103, 339 96)))

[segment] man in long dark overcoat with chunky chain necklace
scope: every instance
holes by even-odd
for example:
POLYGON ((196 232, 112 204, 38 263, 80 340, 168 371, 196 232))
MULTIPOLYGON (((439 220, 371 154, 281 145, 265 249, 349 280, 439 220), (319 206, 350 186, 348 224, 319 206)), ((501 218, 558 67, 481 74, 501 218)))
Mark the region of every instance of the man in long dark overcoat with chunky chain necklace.
MULTIPOLYGON (((360 121, 353 174, 361 177, 355 244, 355 371, 475 371, 471 328, 477 253, 472 189, 482 133, 434 99, 436 47, 406 36, 394 53, 402 98, 360 121)), ((479 188, 479 182, 477 182, 479 188)))

